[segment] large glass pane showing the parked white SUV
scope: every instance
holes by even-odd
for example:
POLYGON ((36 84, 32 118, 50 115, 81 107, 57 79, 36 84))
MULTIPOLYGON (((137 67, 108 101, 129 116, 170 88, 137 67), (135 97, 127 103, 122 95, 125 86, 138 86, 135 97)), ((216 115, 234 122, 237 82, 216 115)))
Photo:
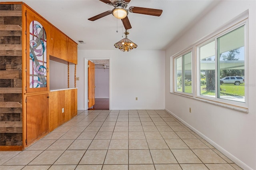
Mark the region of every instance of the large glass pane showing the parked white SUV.
POLYGON ((245 102, 244 26, 225 34, 218 41, 218 98, 245 102))

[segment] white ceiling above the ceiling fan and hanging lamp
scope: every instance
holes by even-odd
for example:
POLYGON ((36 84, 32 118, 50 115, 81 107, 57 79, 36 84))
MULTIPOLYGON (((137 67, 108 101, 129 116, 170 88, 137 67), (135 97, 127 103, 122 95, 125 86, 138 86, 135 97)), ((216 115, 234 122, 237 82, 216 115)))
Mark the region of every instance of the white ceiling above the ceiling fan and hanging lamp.
MULTIPOLYGON (((2 0, 1 0, 2 1, 2 0)), ((10 0, 19 1, 19 0, 10 0)), ((24 0, 41 16, 78 43, 78 50, 113 50, 125 29, 111 14, 96 21, 88 18, 112 10, 99 0, 24 0), (118 30, 118 33, 116 32, 118 30)), ((128 38, 138 45, 134 50, 164 50, 204 16, 217 0, 131 0, 130 6, 162 9, 162 15, 129 13, 132 29, 128 38)), ((117 49, 118 50, 118 49, 117 49)))

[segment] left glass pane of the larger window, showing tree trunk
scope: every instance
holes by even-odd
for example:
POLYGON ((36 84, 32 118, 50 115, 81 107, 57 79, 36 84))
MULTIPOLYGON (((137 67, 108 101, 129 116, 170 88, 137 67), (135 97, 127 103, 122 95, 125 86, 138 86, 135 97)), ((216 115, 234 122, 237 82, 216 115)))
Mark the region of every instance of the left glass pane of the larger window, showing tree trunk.
POLYGON ((215 41, 200 47, 200 95, 216 97, 215 41))

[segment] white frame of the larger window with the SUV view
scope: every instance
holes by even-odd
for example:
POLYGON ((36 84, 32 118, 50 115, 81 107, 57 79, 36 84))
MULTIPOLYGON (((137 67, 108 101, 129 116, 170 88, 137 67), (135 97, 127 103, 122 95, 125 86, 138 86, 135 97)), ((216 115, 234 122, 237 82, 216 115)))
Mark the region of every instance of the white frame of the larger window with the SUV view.
POLYGON ((210 100, 210 101, 214 101, 217 103, 222 103, 224 105, 231 105, 232 107, 241 107, 241 108, 248 108, 248 88, 246 86, 247 82, 248 82, 248 18, 238 22, 237 24, 234 24, 233 26, 230 26, 229 28, 223 30, 222 32, 220 32, 219 34, 216 34, 215 36, 212 36, 211 38, 208 38, 206 40, 204 40, 203 42, 199 43, 198 45, 195 46, 196 48, 196 75, 199 76, 199 78, 196 80, 196 89, 197 89, 197 93, 196 93, 196 97, 200 98, 200 99, 206 99, 206 100, 210 100), (220 70, 218 70, 218 49, 217 49, 217 39, 236 30, 237 28, 240 28, 241 26, 244 26, 244 102, 239 102, 239 101, 232 101, 232 100, 227 100, 227 99, 221 99, 218 98, 218 90, 219 90, 219 75, 218 72, 220 70), (200 47, 206 45, 207 43, 210 42, 215 42, 215 97, 207 97, 204 95, 200 95, 200 47))

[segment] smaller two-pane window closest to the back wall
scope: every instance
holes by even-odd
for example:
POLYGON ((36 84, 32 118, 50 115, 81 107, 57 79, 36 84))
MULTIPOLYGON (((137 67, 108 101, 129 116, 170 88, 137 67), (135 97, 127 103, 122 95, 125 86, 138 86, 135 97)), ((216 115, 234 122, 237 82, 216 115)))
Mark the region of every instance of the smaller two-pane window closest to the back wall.
POLYGON ((174 58, 175 91, 192 94, 192 52, 174 58))

